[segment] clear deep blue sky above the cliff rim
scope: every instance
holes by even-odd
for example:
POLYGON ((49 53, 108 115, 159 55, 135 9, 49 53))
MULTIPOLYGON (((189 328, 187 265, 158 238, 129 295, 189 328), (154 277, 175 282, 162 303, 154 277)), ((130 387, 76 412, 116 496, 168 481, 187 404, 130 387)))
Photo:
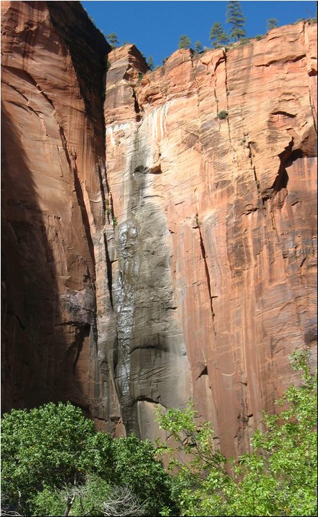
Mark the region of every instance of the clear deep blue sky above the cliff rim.
MULTIPOLYGON (((186 34, 192 41, 210 46, 210 29, 219 21, 225 29, 226 1, 103 1, 81 2, 95 25, 108 34, 115 32, 119 43, 135 43, 155 65, 178 48, 179 37, 186 34)), ((241 1, 246 17, 246 36, 266 32, 266 20, 276 18, 279 26, 299 18, 315 16, 315 1, 241 1)))

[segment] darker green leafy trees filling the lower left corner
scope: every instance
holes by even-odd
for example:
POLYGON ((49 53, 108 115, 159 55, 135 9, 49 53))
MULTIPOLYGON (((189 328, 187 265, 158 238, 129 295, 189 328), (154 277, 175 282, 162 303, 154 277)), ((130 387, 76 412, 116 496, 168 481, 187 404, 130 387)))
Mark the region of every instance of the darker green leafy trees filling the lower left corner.
POLYGON ((112 491, 129 485, 128 503, 132 495, 147 515, 174 507, 170 476, 155 460, 155 447, 134 435, 112 440, 96 432, 70 403, 5 414, 1 452, 2 493, 25 514, 63 515, 72 502, 70 515, 83 515, 77 505, 88 507, 99 492, 105 502, 110 485, 112 491))

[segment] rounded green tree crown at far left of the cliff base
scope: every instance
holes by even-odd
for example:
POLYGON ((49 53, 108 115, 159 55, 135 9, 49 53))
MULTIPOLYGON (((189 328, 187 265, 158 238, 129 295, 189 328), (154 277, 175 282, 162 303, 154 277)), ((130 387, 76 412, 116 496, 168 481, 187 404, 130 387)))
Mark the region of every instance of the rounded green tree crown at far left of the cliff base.
POLYGON ((87 467, 94 423, 71 404, 13 409, 2 420, 2 483, 11 500, 28 501, 46 480, 61 485, 87 467))

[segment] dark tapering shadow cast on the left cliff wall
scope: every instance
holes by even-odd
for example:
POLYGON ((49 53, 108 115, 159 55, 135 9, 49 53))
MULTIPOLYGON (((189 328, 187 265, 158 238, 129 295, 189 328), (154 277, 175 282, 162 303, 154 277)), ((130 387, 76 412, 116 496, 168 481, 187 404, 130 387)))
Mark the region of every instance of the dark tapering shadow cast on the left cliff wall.
POLYGON ((1 398, 2 411, 7 412, 65 400, 69 392, 66 374, 72 365, 63 365, 68 345, 63 332, 56 332, 57 272, 37 187, 18 126, 3 104, 1 398))

